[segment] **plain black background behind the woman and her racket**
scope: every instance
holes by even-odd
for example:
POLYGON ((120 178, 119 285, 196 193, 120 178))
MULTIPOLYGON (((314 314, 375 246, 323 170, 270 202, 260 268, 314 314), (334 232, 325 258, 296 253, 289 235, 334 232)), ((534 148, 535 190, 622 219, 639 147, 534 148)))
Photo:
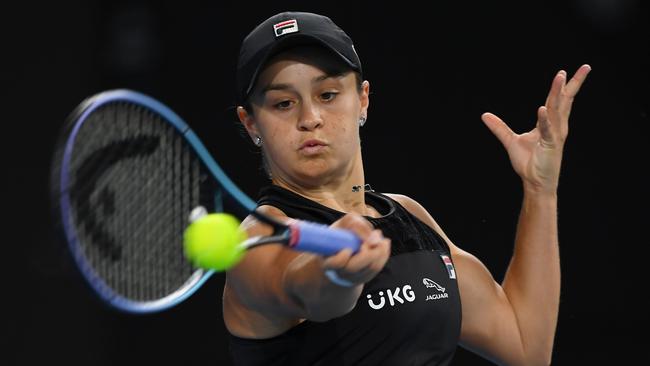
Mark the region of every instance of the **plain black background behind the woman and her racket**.
MULTIPOLYGON (((52 149, 82 99, 131 88, 180 114, 255 196, 266 180, 235 123, 239 44, 268 16, 306 10, 346 30, 371 82, 361 132, 367 182, 422 203, 497 281, 511 254, 521 187, 480 115, 494 112, 527 131, 554 74, 592 65, 574 104, 559 189, 563 288, 553 363, 647 364, 647 3, 428 3, 3 5, 0 363, 229 364, 222 276, 148 316, 107 309, 85 287, 52 228, 52 149)), ((459 348, 455 364, 489 363, 459 348)))

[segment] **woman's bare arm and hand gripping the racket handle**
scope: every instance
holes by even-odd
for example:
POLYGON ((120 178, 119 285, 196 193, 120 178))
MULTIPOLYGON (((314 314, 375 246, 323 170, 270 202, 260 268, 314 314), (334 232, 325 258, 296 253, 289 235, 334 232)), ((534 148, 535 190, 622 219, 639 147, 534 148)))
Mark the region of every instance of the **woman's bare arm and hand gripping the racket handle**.
MULTIPOLYGON (((288 218, 277 208, 260 207, 280 220, 288 218)), ((269 235, 271 228, 249 217, 242 226, 249 236, 269 235)), ((333 227, 355 232, 362 244, 357 254, 349 250, 323 257, 298 252, 283 245, 264 245, 246 253, 226 274, 224 320, 228 330, 245 338, 281 334, 303 319, 325 321, 347 314, 357 303, 363 284, 372 279, 390 256, 390 240, 362 216, 348 214, 333 227), (325 276, 333 269, 353 285, 344 287, 325 276)))

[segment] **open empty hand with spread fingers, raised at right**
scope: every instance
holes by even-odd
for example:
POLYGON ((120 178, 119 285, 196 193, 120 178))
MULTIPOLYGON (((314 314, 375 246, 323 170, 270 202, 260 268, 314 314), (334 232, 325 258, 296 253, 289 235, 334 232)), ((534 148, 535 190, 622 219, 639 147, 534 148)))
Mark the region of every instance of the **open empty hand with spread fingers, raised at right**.
POLYGON ((564 141, 569 133, 571 106, 589 71, 591 66, 582 65, 567 82, 566 72, 560 70, 553 79, 545 105, 537 110, 536 127, 526 133, 514 133, 492 113, 481 116, 506 148, 512 167, 527 189, 556 192, 564 141))

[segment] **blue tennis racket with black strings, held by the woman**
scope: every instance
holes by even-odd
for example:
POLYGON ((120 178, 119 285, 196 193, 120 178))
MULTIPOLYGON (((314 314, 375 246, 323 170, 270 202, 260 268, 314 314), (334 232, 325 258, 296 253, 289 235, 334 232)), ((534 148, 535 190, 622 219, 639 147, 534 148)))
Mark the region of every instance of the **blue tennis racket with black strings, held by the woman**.
POLYGON ((215 273, 184 256, 183 233, 197 209, 240 221, 252 214, 273 228, 271 236, 247 239, 248 249, 359 249, 351 231, 286 225, 255 211, 187 123, 132 90, 84 100, 61 132, 51 169, 53 206, 77 267, 104 302, 125 312, 171 308, 215 273))

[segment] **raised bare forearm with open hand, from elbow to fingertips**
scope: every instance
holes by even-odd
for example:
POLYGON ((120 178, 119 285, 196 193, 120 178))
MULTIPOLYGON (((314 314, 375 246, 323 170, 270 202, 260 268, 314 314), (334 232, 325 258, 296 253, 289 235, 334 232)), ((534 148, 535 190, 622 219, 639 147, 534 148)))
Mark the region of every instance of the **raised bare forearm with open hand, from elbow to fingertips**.
POLYGON ((537 111, 537 126, 527 133, 514 133, 491 113, 482 116, 523 183, 514 253, 501 286, 526 364, 551 361, 560 301, 557 187, 571 107, 590 70, 581 66, 568 82, 566 72, 558 72, 537 111))

